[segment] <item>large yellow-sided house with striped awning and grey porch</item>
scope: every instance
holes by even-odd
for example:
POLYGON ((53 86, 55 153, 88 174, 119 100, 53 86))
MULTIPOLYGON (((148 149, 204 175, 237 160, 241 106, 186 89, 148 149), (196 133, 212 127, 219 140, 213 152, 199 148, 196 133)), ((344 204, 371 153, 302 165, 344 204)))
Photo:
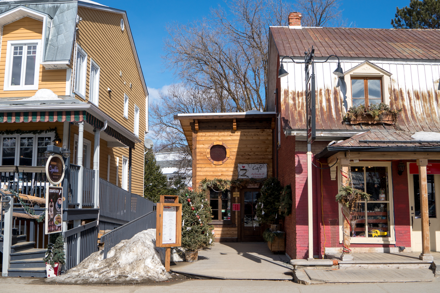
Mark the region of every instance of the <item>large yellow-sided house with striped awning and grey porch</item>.
MULTIPOLYGON (((0 27, 0 185, 43 198, 46 147, 70 150, 62 183, 70 269, 97 250, 98 230, 152 209, 142 197, 148 92, 127 14, 88 0, 2 1, 0 27)), ((27 256, 35 264, 9 267, 4 257, 3 274, 44 277, 44 223, 14 200, 15 228, 2 223, 11 225, 3 226, 11 253, 36 249, 27 256)))

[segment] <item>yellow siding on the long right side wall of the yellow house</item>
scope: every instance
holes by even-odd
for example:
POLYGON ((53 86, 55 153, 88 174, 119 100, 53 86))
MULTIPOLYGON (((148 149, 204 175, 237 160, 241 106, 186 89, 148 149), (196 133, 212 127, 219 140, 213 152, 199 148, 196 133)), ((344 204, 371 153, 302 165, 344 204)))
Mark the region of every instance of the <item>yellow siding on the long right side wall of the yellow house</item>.
MULTIPOLYGON (((130 132, 134 132, 135 104, 139 107, 139 137, 145 132, 145 96, 142 80, 133 55, 128 31, 121 31, 122 15, 78 8, 82 21, 78 24, 77 43, 87 53, 86 100, 89 98, 90 59, 99 66, 99 109, 103 110, 130 132), (122 77, 119 72, 122 71, 122 77), (125 82, 125 84, 124 84, 125 82), (130 88, 132 83, 132 88, 130 88), (107 88, 112 92, 109 94, 107 88), (129 97, 128 119, 124 118, 124 94, 129 97)), ((121 186, 122 156, 128 148, 107 148, 101 140, 99 176, 107 179, 107 154, 110 154, 110 182, 116 183, 116 157, 119 157, 119 186, 121 186)), ((132 151, 132 192, 143 194, 143 143, 132 151)))

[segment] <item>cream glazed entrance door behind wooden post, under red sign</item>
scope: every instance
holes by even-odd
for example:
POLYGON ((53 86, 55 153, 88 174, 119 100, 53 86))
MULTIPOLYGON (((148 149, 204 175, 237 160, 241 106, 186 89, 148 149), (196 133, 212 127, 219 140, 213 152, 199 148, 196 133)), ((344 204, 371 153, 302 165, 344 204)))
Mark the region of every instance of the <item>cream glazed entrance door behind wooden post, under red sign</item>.
MULTIPOLYGON (((418 174, 409 175, 411 248, 422 251, 422 219, 418 174)), ((440 251, 440 175, 426 176, 428 185, 429 244, 431 251, 440 251)), ((398 225, 398 223, 396 223, 398 225)))

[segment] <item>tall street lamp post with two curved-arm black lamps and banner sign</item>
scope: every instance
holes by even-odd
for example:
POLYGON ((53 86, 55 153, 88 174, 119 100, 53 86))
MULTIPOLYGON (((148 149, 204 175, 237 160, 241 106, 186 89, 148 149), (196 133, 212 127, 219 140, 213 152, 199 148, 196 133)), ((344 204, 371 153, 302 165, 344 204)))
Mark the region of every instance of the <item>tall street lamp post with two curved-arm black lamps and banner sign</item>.
POLYGON ((313 197, 312 197, 312 143, 316 139, 316 128, 315 128, 315 102, 316 102, 316 91, 315 91, 315 63, 327 62, 330 57, 337 58, 337 68, 334 70, 333 74, 337 77, 343 77, 344 71, 341 68, 341 62, 339 57, 336 55, 330 55, 324 61, 314 61, 315 49, 304 52, 304 62, 297 62, 293 60, 291 56, 284 56, 281 59, 281 65, 278 71, 278 77, 285 77, 289 73, 284 69, 282 61, 284 58, 290 58, 294 63, 304 64, 305 71, 305 97, 306 97, 306 126, 307 126, 307 202, 308 202, 308 259, 314 260, 313 258, 313 197), (312 73, 310 73, 312 69, 312 73))

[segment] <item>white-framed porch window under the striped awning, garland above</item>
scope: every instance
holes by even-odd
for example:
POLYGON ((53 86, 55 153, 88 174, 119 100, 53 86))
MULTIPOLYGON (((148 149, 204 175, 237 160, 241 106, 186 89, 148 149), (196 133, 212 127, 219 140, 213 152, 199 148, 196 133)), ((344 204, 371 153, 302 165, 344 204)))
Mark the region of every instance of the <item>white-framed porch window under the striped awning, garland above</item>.
POLYGON ((0 165, 45 166, 44 152, 53 139, 53 134, 1 136, 0 165))

